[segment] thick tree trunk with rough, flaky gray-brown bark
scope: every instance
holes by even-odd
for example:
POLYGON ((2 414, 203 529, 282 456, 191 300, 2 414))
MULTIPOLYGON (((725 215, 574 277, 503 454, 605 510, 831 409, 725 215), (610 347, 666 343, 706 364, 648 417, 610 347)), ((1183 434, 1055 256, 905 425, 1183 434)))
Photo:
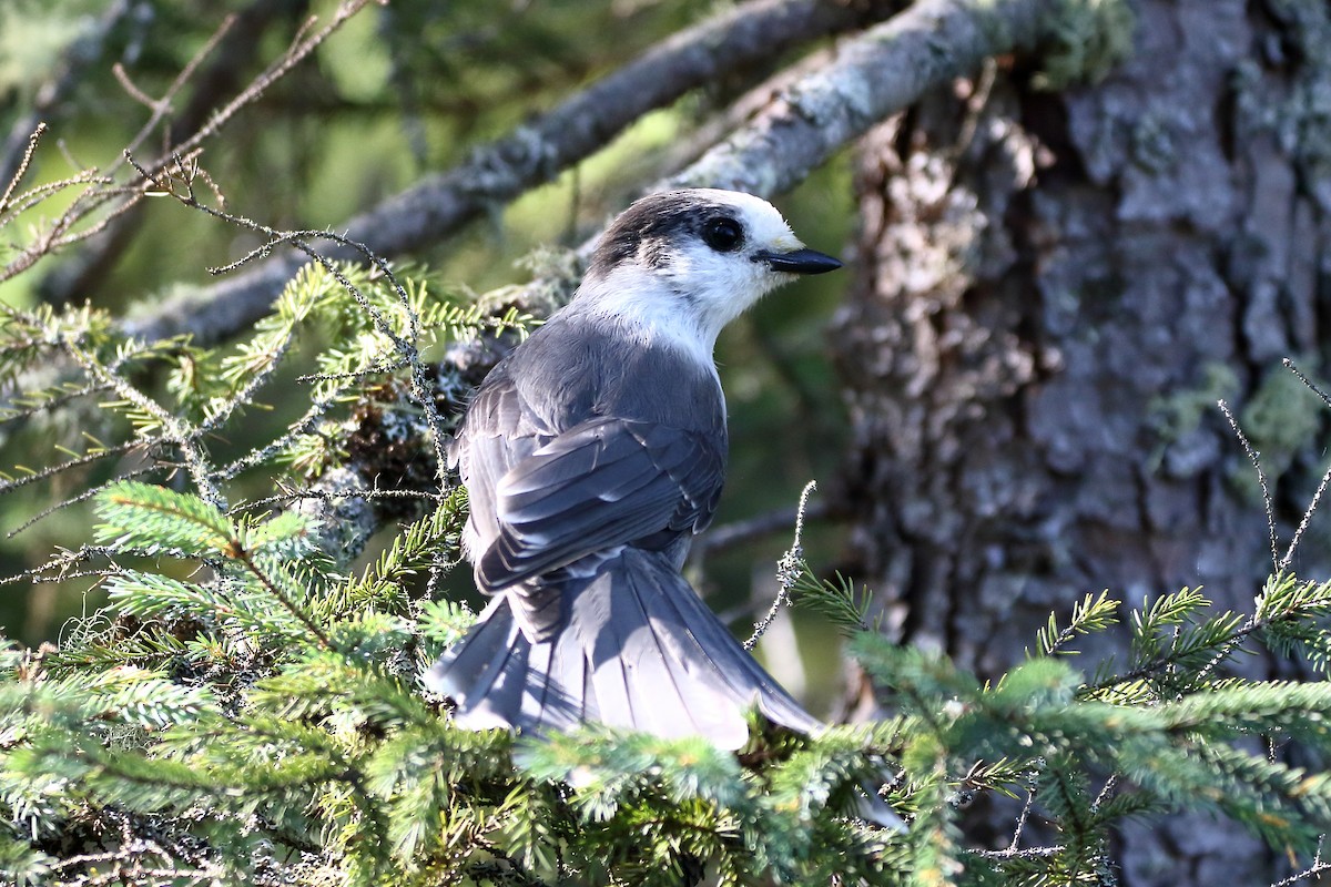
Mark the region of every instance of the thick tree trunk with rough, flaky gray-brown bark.
MULTIPOLYGON (((1135 606, 1202 585, 1251 609, 1271 545, 1218 399, 1284 541, 1324 468, 1326 408, 1280 359, 1323 359, 1328 5, 1134 8, 1135 56, 1097 86, 996 65, 858 154, 861 279, 833 331, 855 557, 889 630, 985 676, 1087 592, 1135 606)), ((1294 568, 1328 560, 1308 539, 1294 568)), ((1122 863, 1131 887, 1282 864, 1206 817, 1131 827, 1122 863)))

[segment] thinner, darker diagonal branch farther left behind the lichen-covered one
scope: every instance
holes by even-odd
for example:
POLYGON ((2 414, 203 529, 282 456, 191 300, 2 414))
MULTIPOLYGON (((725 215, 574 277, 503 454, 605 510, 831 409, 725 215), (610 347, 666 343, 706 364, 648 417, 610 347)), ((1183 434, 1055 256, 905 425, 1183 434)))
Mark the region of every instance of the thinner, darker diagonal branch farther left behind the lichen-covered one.
MULTIPOLYGON (((482 218, 495 203, 551 181, 647 112, 728 72, 853 29, 876 15, 886 15, 886 9, 869 4, 860 12, 825 0, 759 0, 715 16, 486 145, 466 164, 350 219, 345 233, 381 257, 429 246, 482 218)), ((335 247, 323 254, 331 259, 361 258, 335 247)), ((145 339, 189 332, 201 344, 224 340, 262 317, 303 261, 298 255, 269 259, 246 274, 164 303, 152 318, 126 323, 125 331, 145 339)))

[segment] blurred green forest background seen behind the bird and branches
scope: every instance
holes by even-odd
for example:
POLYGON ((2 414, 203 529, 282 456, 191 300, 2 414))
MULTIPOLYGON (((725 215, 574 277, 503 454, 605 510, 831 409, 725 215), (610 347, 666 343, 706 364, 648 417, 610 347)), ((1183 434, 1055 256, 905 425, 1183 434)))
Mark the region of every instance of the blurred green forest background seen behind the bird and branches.
MULTIPOLYGON (((150 114, 112 65, 120 64, 138 90, 160 97, 222 19, 237 13, 236 28, 250 28, 250 36, 205 59, 172 98, 168 120, 184 125, 193 117, 198 125, 280 59, 310 16, 317 16, 317 29, 335 8, 287 0, 7 0, 0 5, 0 134, 11 148, 15 138, 25 140, 35 109, 49 128, 23 185, 118 161, 150 114), (64 88, 48 101, 53 84, 64 88)), ((370 5, 208 140, 201 166, 232 213, 280 229, 335 230, 716 8, 654 0, 370 5)), ((684 162, 699 148, 699 128, 783 61, 773 57, 768 69, 712 84, 644 117, 554 184, 495 206, 486 222, 414 259, 473 293, 526 279, 519 259, 544 245, 580 243, 639 189, 684 162)), ((158 130, 137 150, 153 156, 161 144, 158 130)), ((72 194, 63 191, 7 225, 0 231, 4 261, 72 194)), ((844 254, 855 215, 844 157, 775 202, 811 246, 844 254)), ((113 261, 64 295, 117 315, 152 313, 181 287, 209 285, 208 266, 254 246, 250 234, 174 201, 150 199, 113 261)), ((0 301, 31 307, 48 298, 80 255, 79 247, 65 250, 0 283, 0 301)), ((808 480, 833 476, 845 420, 824 326, 851 279, 843 271, 781 290, 724 335, 717 359, 731 408, 731 473, 717 525, 791 508, 808 480)), ((261 395, 270 410, 252 411, 246 432, 272 436, 299 415, 307 402, 303 392, 293 396, 290 379, 307 370, 317 344, 305 342, 282 374, 286 382, 261 395)), ((51 464, 60 457, 57 443, 77 448, 85 431, 116 434, 96 407, 0 424, 0 468, 51 464)), ((248 442, 233 438, 217 445, 244 449, 248 442)), ((106 464, 0 497, 0 535, 120 468, 106 464)), ((43 563, 56 547, 87 541, 91 521, 87 507, 72 505, 0 539, 0 576, 43 563)), ((835 564, 841 545, 836 527, 815 523, 805 543, 815 565, 835 564)), ((775 563, 788 545, 787 532, 709 557, 703 590, 712 606, 736 626, 752 622, 755 608, 765 609, 761 597, 775 592, 775 563)), ((454 590, 469 585, 459 570, 454 590)), ((98 602, 88 581, 0 585, 0 628, 27 644, 56 640, 69 617, 89 614, 98 602)), ((835 632, 800 614, 796 624, 801 657, 811 664, 807 696, 815 709, 825 709, 840 678, 835 632)), ((785 657, 777 648, 772 658, 785 657)), ((799 681, 781 662, 772 664, 779 677, 799 681)))

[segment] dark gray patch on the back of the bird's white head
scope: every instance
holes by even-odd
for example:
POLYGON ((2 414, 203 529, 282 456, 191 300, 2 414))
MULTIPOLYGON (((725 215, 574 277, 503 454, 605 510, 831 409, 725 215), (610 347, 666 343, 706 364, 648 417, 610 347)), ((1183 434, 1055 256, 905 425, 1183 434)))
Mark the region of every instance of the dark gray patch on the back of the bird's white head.
POLYGON ((701 237, 708 221, 733 211, 731 206, 687 190, 650 194, 624 210, 606 230, 588 273, 607 274, 635 258, 648 267, 660 267, 671 243, 701 237))

